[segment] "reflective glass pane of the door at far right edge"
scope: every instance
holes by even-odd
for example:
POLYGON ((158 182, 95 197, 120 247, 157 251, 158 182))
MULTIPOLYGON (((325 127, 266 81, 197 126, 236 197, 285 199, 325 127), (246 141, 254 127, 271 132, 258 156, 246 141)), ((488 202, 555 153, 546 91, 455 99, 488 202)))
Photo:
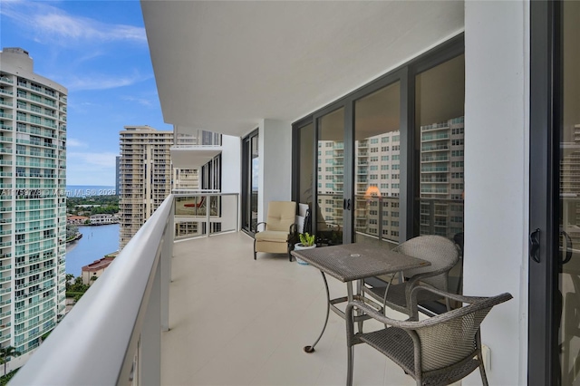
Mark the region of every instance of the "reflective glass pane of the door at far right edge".
MULTIPOLYGON (((558 275, 561 383, 580 374, 580 3, 563 2, 562 127, 560 128, 560 274, 558 275)), ((556 349, 555 349, 556 350, 556 349)))

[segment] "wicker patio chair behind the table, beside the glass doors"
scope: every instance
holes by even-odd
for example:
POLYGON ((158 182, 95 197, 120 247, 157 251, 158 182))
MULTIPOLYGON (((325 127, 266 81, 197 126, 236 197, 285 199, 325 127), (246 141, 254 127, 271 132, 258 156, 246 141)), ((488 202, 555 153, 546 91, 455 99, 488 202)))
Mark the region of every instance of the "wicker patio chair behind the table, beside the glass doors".
MULTIPOLYGON (((448 291, 449 270, 459 260, 459 250, 455 243, 443 236, 426 235, 413 237, 392 249, 403 255, 419 257, 430 261, 431 265, 402 272, 401 283, 393 284, 395 275, 387 285, 363 285, 362 291, 375 300, 382 302, 383 307, 411 316, 409 296, 411 290, 420 283, 448 291)), ((421 291, 419 304, 441 299, 439 294, 421 291)), ((449 299, 446 300, 447 310, 450 310, 449 299)))

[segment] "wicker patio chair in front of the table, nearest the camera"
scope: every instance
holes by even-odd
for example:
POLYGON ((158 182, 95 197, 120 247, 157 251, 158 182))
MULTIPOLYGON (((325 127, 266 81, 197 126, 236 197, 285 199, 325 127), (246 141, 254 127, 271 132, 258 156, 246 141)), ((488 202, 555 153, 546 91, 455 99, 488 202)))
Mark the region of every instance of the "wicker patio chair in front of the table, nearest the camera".
POLYGON ((367 304, 349 302, 346 306, 346 384, 353 384, 354 345, 367 343, 397 363, 417 381, 417 385, 447 385, 477 368, 483 384, 488 385, 481 356, 479 325, 494 305, 511 298, 512 295, 507 293, 494 297, 468 297, 418 285, 411 292, 414 321, 393 320, 367 304), (468 305, 419 322, 416 320, 417 294, 425 291, 468 305), (372 333, 354 333, 354 307, 387 327, 372 333))

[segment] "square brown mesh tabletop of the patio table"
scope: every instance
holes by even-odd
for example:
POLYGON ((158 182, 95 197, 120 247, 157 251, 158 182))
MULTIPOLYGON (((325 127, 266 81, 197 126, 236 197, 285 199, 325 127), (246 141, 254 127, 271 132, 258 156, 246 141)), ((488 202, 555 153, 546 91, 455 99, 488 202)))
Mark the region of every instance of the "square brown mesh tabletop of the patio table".
POLYGON ((386 246, 358 243, 303 249, 293 251, 292 255, 342 282, 430 265, 426 260, 393 252, 386 246))

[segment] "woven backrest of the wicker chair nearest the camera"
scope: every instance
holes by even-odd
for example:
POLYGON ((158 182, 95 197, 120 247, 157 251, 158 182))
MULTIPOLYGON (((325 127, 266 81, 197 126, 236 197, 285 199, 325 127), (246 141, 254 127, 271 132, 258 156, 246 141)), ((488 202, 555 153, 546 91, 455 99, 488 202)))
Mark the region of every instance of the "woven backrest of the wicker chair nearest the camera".
POLYGON ((420 338, 421 371, 451 366, 473 356, 477 348, 479 325, 496 305, 511 294, 482 297, 464 307, 434 316, 413 329, 420 338))

